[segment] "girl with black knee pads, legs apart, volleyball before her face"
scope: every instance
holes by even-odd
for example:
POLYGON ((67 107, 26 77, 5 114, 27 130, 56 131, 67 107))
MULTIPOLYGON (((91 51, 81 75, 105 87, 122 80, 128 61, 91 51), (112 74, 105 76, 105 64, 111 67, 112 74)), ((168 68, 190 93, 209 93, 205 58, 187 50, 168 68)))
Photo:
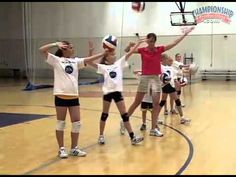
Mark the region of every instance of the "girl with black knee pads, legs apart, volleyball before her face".
POLYGON ((129 133, 131 143, 135 145, 143 141, 143 137, 135 136, 131 128, 129 122, 129 116, 125 108, 124 98, 122 96, 122 91, 123 91, 123 68, 128 66, 127 60, 132 55, 133 51, 144 41, 145 39, 139 40, 139 42, 135 45, 133 50, 126 53, 123 57, 121 57, 117 61, 115 57, 115 51, 111 51, 103 58, 101 62, 103 64, 101 63, 95 64, 93 62, 89 62, 91 66, 97 69, 97 73, 103 74, 104 76, 104 84, 102 87, 103 112, 100 120, 100 135, 98 138, 99 144, 105 144, 104 129, 112 100, 116 102, 116 106, 121 114, 124 126, 129 133))

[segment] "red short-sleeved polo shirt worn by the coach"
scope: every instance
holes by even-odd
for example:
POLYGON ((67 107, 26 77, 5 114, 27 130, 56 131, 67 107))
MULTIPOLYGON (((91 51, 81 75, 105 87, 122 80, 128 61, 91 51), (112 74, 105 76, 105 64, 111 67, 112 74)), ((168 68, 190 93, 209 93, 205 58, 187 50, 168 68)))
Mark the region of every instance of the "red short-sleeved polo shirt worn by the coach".
POLYGON ((139 48, 138 53, 142 58, 142 75, 161 74, 161 54, 165 51, 164 46, 155 47, 150 51, 147 47, 139 48))

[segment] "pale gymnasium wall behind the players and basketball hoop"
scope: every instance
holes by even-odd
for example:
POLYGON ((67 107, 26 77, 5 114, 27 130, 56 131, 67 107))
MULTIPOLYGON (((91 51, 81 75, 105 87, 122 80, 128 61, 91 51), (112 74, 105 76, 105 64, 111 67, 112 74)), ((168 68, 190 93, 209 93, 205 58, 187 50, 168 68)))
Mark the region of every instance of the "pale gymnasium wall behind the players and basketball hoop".
MULTIPOLYGON (((157 44, 165 45, 181 35, 180 27, 170 24, 170 12, 179 11, 174 2, 146 2, 145 11, 136 13, 131 2, 27 2, 31 18, 28 21, 31 33, 31 54, 36 75, 52 77, 51 68, 38 53, 38 48, 55 40, 69 40, 76 47, 76 55, 83 57, 88 53, 88 39, 95 44, 95 52, 101 51, 101 40, 106 34, 119 39, 117 56, 130 40, 135 41, 134 33, 145 36, 149 32, 158 35, 157 44)), ((25 57, 22 48, 23 2, 0 3, 0 68, 24 68, 25 57), (12 52, 14 51, 14 52, 12 52)), ((201 7, 224 7, 236 12, 236 2, 187 2, 185 10, 201 7)), ((199 23, 195 30, 178 46, 168 51, 174 56, 179 52, 190 56, 200 69, 236 69, 234 41, 236 38, 235 15, 231 22, 199 23), (224 36, 227 36, 225 38, 224 36)), ((125 77, 133 77, 133 69, 140 68, 139 55, 133 55, 125 77)), ((93 69, 81 71, 82 77, 97 77, 93 69)), ((0 71, 1 75, 1 71, 0 71)))

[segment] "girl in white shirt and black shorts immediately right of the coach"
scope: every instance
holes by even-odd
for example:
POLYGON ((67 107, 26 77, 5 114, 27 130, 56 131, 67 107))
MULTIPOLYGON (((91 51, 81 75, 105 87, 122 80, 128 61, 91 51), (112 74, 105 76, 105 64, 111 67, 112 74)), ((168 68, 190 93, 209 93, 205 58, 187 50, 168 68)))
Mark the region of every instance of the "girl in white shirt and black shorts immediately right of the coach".
POLYGON ((176 94, 175 83, 178 82, 178 80, 177 80, 177 72, 172 67, 173 59, 170 58, 166 54, 162 54, 161 57, 162 57, 162 66, 161 66, 162 74, 166 73, 166 75, 168 75, 168 78, 163 77, 161 79, 163 82, 163 84, 162 84, 162 98, 161 98, 161 102, 159 105, 161 108, 165 105, 167 95, 169 94, 170 98, 175 101, 177 110, 178 110, 179 115, 181 117, 180 123, 181 124, 189 123, 190 119, 187 119, 184 117, 182 107, 181 107, 181 101, 176 94))

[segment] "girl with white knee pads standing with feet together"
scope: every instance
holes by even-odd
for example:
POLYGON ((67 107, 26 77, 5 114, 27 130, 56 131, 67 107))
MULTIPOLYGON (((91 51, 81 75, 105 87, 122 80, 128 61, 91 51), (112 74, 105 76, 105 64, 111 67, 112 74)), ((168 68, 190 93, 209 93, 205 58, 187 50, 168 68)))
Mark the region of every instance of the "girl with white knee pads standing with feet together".
POLYGON ((80 130, 80 107, 78 93, 78 71, 86 66, 87 62, 96 60, 106 54, 106 51, 86 58, 72 57, 74 48, 68 41, 56 42, 43 45, 39 51, 46 57, 46 62, 54 69, 55 107, 57 113, 56 138, 59 146, 58 156, 67 158, 68 153, 64 147, 64 129, 67 110, 69 110, 71 129, 72 156, 86 156, 86 152, 78 148, 80 130), (57 47, 55 55, 49 49, 57 47))

